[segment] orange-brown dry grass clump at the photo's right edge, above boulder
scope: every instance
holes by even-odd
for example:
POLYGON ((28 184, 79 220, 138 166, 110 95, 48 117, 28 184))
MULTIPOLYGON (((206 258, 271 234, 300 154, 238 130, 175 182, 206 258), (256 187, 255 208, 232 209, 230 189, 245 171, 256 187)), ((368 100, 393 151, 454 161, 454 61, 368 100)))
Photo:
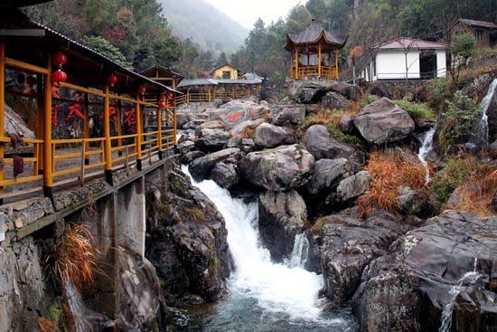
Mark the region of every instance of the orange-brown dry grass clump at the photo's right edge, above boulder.
POLYGON ((458 199, 447 207, 460 211, 476 213, 480 216, 490 216, 493 194, 497 190, 497 169, 490 166, 480 166, 459 187, 458 199))

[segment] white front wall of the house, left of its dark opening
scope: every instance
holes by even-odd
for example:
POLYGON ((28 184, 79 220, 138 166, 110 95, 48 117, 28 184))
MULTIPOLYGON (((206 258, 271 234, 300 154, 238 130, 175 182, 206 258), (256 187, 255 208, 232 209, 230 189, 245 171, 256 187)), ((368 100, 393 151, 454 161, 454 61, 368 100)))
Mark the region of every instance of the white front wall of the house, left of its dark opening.
MULTIPOLYGON (((419 79, 419 51, 408 52, 408 79, 419 79)), ((375 80, 406 79, 406 54, 403 50, 380 50, 376 54, 375 80)))

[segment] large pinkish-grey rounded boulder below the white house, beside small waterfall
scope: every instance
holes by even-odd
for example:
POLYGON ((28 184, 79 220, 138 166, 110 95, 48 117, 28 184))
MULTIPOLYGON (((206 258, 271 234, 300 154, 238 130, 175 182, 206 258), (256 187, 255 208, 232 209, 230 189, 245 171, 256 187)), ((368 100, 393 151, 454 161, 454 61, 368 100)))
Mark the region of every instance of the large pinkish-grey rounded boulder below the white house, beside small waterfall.
POLYGON ((382 145, 407 138, 415 128, 408 112, 382 98, 366 106, 354 119, 355 127, 372 144, 382 145))

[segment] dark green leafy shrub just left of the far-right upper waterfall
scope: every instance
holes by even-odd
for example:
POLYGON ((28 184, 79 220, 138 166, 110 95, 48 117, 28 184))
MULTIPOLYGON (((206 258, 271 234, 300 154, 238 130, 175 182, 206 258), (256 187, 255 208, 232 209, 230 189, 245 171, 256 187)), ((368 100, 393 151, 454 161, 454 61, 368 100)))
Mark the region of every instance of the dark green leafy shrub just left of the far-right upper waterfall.
POLYGON ((464 96, 462 91, 456 91, 453 100, 447 101, 445 112, 446 125, 442 139, 446 147, 450 144, 464 143, 470 138, 474 121, 482 114, 482 110, 473 100, 464 96))

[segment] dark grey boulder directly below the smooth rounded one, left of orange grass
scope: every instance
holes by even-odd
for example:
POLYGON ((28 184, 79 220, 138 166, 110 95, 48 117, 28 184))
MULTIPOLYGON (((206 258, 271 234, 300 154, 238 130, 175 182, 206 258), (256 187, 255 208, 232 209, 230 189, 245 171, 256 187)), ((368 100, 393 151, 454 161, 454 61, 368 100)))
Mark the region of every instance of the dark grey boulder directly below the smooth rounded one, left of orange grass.
POLYGON ((348 172, 347 159, 320 159, 311 168, 311 177, 306 188, 310 194, 318 194, 325 189, 336 187, 343 175, 348 172))

